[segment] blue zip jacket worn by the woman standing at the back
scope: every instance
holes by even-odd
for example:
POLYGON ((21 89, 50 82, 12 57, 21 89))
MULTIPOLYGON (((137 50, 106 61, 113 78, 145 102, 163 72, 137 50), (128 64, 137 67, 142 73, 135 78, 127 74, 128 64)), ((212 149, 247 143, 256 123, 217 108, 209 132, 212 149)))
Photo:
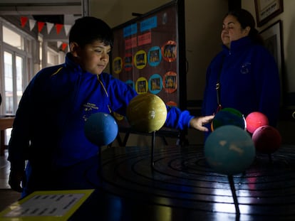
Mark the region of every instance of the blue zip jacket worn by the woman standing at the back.
POLYGON ((204 115, 217 110, 218 75, 222 107, 237 109, 244 117, 251 112, 262 112, 269 124, 276 126, 281 97, 279 71, 264 46, 254 44, 248 36, 232 41, 230 49, 223 46, 207 68, 204 115))

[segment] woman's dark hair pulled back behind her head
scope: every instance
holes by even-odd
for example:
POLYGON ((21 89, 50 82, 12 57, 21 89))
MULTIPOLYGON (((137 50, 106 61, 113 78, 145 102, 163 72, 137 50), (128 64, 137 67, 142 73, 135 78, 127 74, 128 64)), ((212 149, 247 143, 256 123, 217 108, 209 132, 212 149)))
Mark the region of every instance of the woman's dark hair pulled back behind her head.
POLYGON ((249 32, 249 37, 252 38, 252 40, 255 43, 258 43, 260 45, 264 45, 264 41, 262 36, 259 35, 257 29, 255 28, 255 19, 252 16, 251 13, 249 13, 249 11, 245 10, 245 9, 234 9, 232 11, 229 11, 226 16, 234 16, 235 18, 237 18, 237 21, 239 21, 239 23, 241 24, 242 28, 246 28, 247 26, 249 26, 250 32, 249 32))

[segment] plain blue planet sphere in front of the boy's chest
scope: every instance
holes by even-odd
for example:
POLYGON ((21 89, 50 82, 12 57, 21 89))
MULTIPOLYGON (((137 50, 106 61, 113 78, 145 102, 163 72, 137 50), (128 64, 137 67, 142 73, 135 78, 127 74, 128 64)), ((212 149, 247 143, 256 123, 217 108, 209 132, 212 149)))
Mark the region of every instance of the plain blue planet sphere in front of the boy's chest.
POLYGON ((107 113, 91 114, 84 125, 86 138, 93 144, 104 146, 112 143, 118 135, 118 124, 107 113))

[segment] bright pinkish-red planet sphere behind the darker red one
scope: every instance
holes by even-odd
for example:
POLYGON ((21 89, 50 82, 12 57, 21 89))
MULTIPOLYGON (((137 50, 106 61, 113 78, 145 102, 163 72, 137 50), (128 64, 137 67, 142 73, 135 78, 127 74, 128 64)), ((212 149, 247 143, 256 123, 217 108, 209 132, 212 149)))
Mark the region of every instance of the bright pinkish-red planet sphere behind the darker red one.
POLYGON ((269 119, 262 112, 252 112, 246 117, 247 131, 251 134, 259 128, 259 126, 269 125, 269 119))

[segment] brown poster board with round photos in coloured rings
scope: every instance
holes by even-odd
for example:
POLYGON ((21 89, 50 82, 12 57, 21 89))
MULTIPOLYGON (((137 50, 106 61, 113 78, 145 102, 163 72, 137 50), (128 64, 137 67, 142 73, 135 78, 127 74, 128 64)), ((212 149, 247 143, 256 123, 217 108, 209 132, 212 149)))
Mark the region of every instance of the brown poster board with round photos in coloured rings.
MULTIPOLYGON (((138 94, 150 92, 186 109, 184 1, 171 1, 116 26, 113 33, 111 74, 138 94)), ((116 118, 122 124, 124 118, 116 118)))

